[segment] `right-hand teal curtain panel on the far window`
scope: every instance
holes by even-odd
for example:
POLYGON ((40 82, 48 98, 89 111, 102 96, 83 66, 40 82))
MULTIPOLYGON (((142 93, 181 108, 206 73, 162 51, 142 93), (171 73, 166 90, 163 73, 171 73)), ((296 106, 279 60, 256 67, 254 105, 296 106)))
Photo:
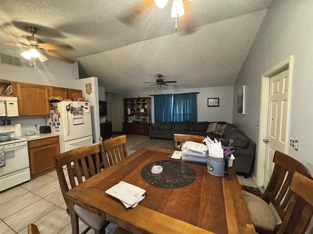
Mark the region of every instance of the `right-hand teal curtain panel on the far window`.
POLYGON ((173 94, 172 121, 197 122, 197 93, 173 94))

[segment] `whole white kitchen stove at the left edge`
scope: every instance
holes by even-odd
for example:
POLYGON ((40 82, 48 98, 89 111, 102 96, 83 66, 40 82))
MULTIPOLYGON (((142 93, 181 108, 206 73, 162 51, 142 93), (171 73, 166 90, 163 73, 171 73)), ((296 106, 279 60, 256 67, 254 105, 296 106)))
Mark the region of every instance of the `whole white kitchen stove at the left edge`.
POLYGON ((0 126, 1 133, 11 133, 11 138, 0 141, 4 149, 5 166, 0 167, 0 191, 30 179, 27 139, 15 137, 14 125, 0 126))

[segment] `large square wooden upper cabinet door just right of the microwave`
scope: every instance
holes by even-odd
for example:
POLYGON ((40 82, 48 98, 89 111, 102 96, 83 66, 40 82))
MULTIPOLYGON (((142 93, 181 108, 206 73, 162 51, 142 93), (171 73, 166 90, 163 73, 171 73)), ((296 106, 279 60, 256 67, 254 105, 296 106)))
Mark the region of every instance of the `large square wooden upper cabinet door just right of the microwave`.
POLYGON ((48 86, 17 83, 19 116, 50 115, 48 86))

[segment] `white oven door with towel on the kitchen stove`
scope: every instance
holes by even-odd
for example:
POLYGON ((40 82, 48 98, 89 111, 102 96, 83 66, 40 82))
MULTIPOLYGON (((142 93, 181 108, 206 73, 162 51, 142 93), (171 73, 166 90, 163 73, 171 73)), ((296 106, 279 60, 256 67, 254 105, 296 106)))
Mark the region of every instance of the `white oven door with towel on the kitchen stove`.
POLYGON ((4 148, 5 166, 0 167, 0 176, 29 167, 27 141, 7 144, 4 148))

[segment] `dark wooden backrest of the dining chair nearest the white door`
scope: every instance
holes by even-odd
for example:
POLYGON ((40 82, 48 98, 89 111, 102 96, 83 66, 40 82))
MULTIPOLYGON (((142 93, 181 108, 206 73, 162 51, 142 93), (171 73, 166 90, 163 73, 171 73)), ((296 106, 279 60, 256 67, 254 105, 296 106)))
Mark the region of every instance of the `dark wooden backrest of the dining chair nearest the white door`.
POLYGON ((272 203, 277 214, 283 220, 286 207, 291 199, 289 187, 293 173, 298 172, 306 177, 311 176, 311 173, 301 162, 279 151, 275 151, 273 162, 275 163, 274 170, 261 198, 268 204, 272 203))

